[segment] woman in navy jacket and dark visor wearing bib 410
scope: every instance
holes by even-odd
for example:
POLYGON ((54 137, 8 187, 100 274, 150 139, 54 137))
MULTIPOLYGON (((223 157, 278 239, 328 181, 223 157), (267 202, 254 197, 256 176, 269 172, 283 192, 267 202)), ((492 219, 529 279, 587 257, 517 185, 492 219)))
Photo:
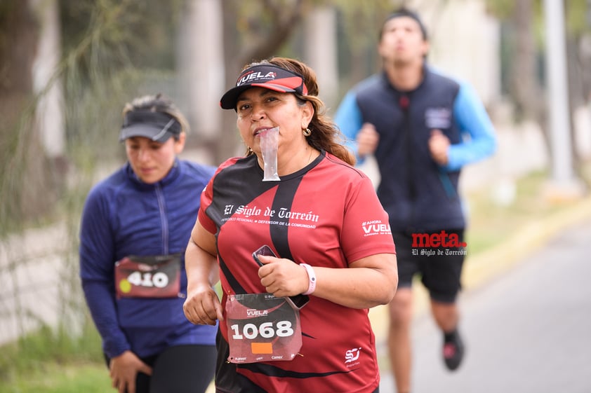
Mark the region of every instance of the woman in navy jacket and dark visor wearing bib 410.
POLYGON ((215 368, 215 326, 182 312, 185 247, 215 168, 179 160, 187 120, 168 97, 123 111, 128 162, 88 194, 80 275, 119 393, 204 392, 215 368))

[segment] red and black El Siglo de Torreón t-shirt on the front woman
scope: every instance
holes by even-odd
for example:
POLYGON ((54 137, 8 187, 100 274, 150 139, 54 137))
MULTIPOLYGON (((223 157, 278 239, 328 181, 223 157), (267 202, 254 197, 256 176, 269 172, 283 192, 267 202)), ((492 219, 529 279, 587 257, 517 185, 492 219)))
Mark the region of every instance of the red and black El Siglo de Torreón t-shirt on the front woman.
MULTIPOLYGON (((370 179, 324 152, 281 181, 263 181, 255 156, 227 160, 201 195, 199 222, 218 238, 224 306, 228 294, 265 292, 252 258, 263 244, 281 258, 329 268, 395 252, 370 179)), ((302 356, 238 365, 227 363, 227 326, 220 322, 218 392, 353 393, 378 387, 368 310, 312 295, 300 319, 302 356)))

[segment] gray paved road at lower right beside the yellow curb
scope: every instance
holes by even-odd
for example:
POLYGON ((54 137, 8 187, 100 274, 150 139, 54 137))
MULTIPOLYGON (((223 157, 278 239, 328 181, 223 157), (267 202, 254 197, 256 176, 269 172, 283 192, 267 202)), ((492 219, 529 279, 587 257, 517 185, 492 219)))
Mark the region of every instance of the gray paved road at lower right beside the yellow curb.
MULTIPOLYGON (((414 323, 413 393, 591 393, 591 222, 460 298, 465 363, 448 373, 430 316, 414 323)), ((394 393, 383 373, 381 393, 394 393)))

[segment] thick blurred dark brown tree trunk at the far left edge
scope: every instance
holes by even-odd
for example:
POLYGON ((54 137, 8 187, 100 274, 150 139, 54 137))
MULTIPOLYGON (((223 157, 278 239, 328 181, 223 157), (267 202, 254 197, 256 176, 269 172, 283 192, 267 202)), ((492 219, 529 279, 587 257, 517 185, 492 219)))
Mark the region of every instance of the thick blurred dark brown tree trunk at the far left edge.
POLYGON ((5 233, 49 212, 56 179, 34 121, 32 69, 39 25, 29 1, 4 1, 0 11, 0 230, 5 233))

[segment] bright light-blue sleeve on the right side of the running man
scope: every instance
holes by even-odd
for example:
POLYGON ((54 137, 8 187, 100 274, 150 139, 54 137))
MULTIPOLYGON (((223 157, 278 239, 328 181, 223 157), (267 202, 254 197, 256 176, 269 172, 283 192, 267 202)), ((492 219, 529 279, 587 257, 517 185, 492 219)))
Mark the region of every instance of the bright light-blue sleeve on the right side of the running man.
POLYGON ((449 171, 491 156, 497 146, 493 123, 478 95, 467 83, 460 84, 453 115, 464 138, 460 144, 449 147, 446 165, 449 171))

